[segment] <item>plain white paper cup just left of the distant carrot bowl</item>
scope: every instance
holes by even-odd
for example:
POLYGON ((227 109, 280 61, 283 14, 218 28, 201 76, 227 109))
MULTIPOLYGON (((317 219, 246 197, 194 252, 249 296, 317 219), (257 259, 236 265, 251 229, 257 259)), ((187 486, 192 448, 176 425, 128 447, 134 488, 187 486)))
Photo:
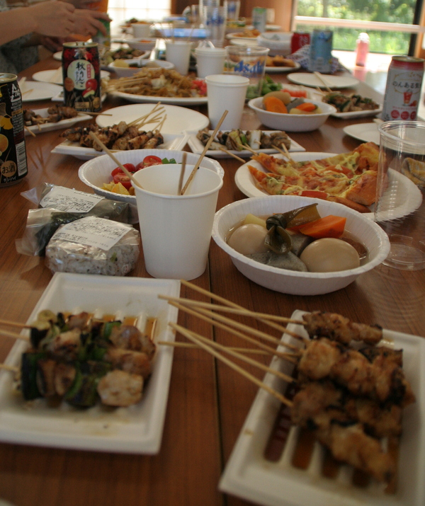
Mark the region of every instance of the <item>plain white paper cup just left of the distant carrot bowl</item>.
POLYGON ((207 76, 208 117, 212 128, 217 126, 225 110, 228 111, 222 122, 222 130, 239 128, 244 112, 246 88, 249 79, 244 76, 220 74, 207 76))

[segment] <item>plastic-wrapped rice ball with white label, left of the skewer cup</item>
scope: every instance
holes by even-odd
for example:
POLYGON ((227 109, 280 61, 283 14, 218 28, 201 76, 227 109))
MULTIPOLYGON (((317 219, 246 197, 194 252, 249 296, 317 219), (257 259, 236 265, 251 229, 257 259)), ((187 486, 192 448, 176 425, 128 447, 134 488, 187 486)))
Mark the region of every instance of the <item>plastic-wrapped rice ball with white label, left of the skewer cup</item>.
POLYGON ((86 217, 60 226, 46 248, 52 272, 124 276, 135 267, 140 234, 129 224, 86 217))

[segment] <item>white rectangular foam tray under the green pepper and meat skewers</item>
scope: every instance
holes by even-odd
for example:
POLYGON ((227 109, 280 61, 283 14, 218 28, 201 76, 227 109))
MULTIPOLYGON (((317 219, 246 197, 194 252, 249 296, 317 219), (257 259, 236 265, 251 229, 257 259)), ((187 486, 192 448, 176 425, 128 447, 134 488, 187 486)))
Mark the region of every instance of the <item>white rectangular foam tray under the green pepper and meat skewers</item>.
MULTIPOLYGON (((174 341, 168 322, 176 322, 178 311, 157 296, 179 297, 179 293, 179 280, 57 272, 28 323, 34 321, 42 309, 88 311, 95 316, 152 316, 158 318, 155 339, 174 341)), ((27 346, 25 341, 17 341, 6 364, 18 366, 27 346)), ((172 362, 173 348, 160 346, 142 401, 114 410, 102 406, 77 410, 64 402, 58 408, 51 408, 43 399, 28 408, 21 394, 13 391, 11 372, 1 371, 0 441, 98 452, 156 454, 161 445, 172 362)))

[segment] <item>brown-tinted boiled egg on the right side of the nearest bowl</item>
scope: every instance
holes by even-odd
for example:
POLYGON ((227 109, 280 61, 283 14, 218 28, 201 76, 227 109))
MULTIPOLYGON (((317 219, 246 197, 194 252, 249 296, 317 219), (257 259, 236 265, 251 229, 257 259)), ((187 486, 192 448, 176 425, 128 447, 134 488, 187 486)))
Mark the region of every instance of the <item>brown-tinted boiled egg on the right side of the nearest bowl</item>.
POLYGON ((336 272, 360 265, 358 253, 351 244, 335 238, 317 239, 302 251, 300 260, 310 272, 336 272))

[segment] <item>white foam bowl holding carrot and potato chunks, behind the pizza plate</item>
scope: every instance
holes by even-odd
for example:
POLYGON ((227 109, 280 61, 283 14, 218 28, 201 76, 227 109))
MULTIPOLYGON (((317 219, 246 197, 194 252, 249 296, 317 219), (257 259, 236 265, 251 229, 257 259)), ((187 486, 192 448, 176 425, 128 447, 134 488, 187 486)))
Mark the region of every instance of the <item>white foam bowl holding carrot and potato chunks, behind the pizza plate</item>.
POLYGON ((307 98, 307 102, 314 103, 323 111, 321 114, 282 114, 271 113, 263 109, 263 98, 252 98, 249 107, 256 112, 257 117, 273 130, 285 130, 285 132, 310 132, 321 127, 331 113, 336 113, 336 108, 328 103, 307 98))

